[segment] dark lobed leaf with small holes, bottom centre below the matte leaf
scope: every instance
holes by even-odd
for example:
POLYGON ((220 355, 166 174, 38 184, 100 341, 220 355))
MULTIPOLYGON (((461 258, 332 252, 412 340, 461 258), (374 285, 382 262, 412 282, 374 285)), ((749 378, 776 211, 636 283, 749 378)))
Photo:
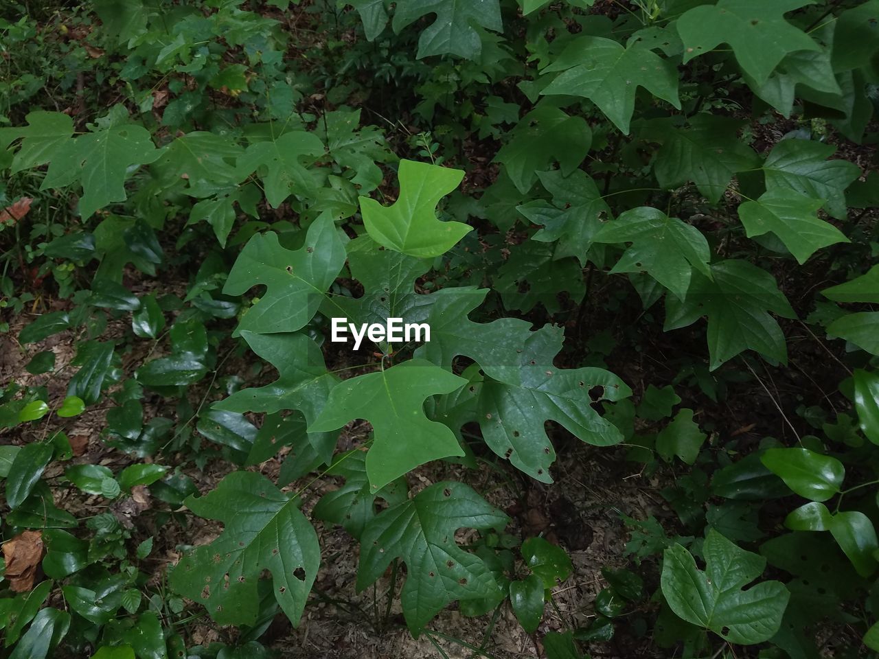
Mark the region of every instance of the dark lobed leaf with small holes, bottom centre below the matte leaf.
POLYGON ((395 558, 406 563, 403 615, 417 632, 454 600, 495 596, 490 567, 458 547, 461 528, 502 529, 509 518, 461 482, 438 482, 371 520, 360 539, 357 590, 374 583, 395 558))

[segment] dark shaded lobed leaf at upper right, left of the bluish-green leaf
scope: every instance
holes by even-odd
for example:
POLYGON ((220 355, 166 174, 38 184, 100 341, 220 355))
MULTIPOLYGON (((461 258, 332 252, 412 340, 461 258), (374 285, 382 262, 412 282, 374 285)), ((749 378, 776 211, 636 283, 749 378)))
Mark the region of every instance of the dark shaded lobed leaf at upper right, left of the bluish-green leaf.
POLYGON ((677 188, 693 181, 712 204, 723 196, 733 174, 751 170, 759 163, 754 150, 738 137, 742 121, 711 114, 697 114, 688 127, 665 123, 662 148, 656 156, 657 181, 664 188, 677 188))

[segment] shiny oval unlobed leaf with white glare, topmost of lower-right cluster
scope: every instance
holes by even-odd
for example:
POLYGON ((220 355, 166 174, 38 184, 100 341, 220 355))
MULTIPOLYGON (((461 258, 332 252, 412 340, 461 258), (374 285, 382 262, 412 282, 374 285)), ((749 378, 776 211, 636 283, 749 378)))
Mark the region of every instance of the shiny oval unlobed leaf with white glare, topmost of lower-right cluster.
POLYGON ((806 448, 771 448, 760 461, 788 488, 812 501, 827 501, 838 494, 846 476, 839 460, 806 448))

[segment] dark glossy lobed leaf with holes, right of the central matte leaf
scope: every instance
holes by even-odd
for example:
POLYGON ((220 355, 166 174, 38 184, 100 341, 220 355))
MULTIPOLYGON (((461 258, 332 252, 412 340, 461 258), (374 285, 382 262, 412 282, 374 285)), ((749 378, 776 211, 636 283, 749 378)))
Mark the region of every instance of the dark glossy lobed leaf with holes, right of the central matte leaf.
POLYGON ((622 441, 620 431, 591 404, 631 395, 622 380, 604 369, 553 366, 562 340, 563 330, 551 325, 532 332, 518 355, 518 383, 493 379, 505 377, 508 367, 485 367, 489 378, 480 391, 479 424, 485 443, 513 467, 541 482, 552 482, 549 466, 556 459, 544 430, 548 419, 588 444, 614 445, 622 441))

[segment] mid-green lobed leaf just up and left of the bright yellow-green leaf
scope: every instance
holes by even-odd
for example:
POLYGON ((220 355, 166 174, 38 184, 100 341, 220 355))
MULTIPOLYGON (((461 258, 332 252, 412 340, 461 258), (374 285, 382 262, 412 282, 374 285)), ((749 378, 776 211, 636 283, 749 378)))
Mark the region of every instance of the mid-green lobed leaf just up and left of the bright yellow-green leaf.
POLYGON ((237 160, 238 176, 245 178, 265 168, 267 173, 259 174, 265 187, 265 200, 277 208, 291 194, 301 195, 316 189, 314 174, 301 163, 306 156, 309 164, 317 156, 323 156, 323 142, 316 134, 290 131, 272 140, 252 143, 237 160))

